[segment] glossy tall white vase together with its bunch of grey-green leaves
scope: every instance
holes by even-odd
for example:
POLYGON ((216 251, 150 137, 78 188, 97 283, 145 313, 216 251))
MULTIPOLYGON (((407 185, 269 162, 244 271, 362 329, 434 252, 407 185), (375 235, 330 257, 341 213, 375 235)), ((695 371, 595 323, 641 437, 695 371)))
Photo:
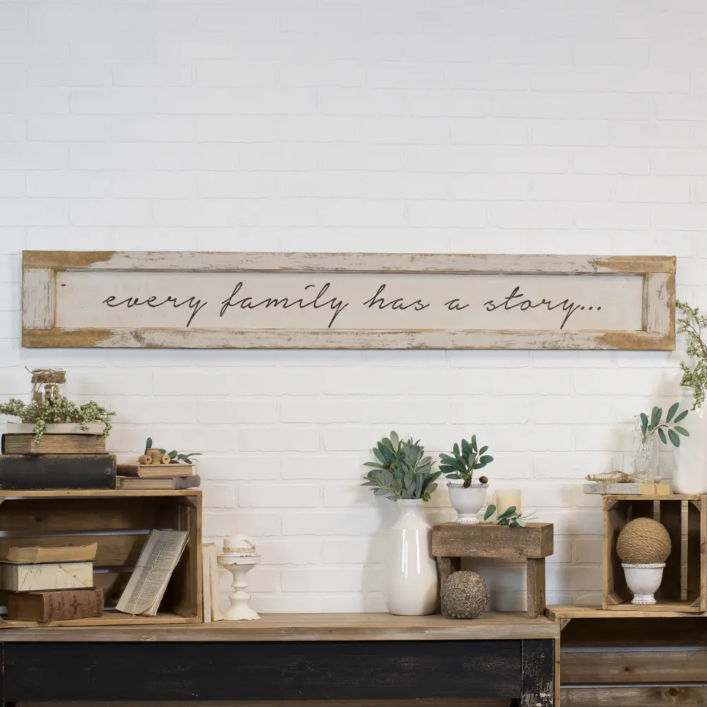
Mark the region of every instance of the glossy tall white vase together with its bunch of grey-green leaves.
POLYGON ((385 601, 391 614, 423 616, 437 604, 437 564, 432 556, 432 528, 423 506, 437 488, 442 472, 432 470, 432 458, 412 439, 401 440, 395 432, 373 448, 375 462, 362 486, 376 496, 396 501, 399 518, 390 529, 385 601))

